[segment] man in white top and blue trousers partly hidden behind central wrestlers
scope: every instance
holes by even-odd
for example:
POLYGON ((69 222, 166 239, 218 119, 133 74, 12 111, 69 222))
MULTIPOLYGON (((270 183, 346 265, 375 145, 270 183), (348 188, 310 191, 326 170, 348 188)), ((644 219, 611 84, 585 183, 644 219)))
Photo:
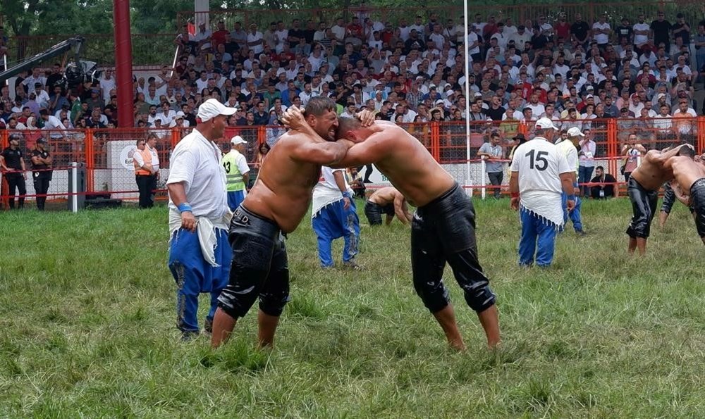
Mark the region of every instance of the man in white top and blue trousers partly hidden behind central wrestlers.
POLYGON ((353 189, 345 180, 345 169, 323 166, 318 185, 313 189, 313 231, 318 238, 318 257, 321 268, 333 267, 331 246, 333 240, 343 237, 343 266, 360 270, 355 263, 360 239, 360 218, 357 216, 353 189))

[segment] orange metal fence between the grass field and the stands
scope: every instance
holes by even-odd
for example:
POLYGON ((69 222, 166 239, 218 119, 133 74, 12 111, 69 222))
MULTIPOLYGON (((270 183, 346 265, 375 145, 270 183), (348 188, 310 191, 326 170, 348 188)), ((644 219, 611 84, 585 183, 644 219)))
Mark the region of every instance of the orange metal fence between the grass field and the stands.
MULTIPOLYGON (((662 149, 673 144, 687 142, 695 146, 699 154, 705 151, 705 117, 687 120, 673 119, 606 119, 568 121, 556 120, 556 125, 567 128, 580 126, 588 137, 596 142, 596 164, 604 165, 606 171, 620 180, 619 168, 623 164, 624 147, 630 133, 637 135, 639 143, 646 149, 662 149), (670 127, 668 127, 670 122, 670 127)), ((517 120, 502 122, 479 122, 470 124, 470 136, 465 135, 465 121, 402 124, 413 137, 422 142, 432 156, 465 187, 485 185, 482 166, 477 151, 489 140, 491 132, 498 132, 503 139, 504 157, 508 158, 516 142, 517 133, 532 137, 531 125, 517 120)), ((137 139, 146 139, 150 133, 157 135, 157 151, 160 160, 159 189, 164 194, 164 182, 168 177, 169 157, 189 130, 154 129, 104 129, 104 130, 2 130, 0 144, 8 146, 10 136, 20 139, 20 149, 25 156, 35 148, 37 138, 42 136, 49 141, 49 151, 54 158, 54 180, 49 189, 50 199, 65 198, 68 190, 66 175, 71 162, 83 163, 87 170, 86 194, 110 195, 119 199, 135 199, 137 185, 132 163, 132 154, 137 139)), ((267 142, 274 144, 284 132, 278 126, 227 127, 223 138, 216 144, 223 150, 229 149, 228 141, 240 135, 247 141, 245 156, 251 165, 257 160, 257 147, 267 142)), ((556 133, 556 138, 558 138, 556 133)), ((29 158, 25 158, 27 172, 31 171, 29 158)), ((29 179, 30 177, 27 176, 29 179)), ((2 199, 6 202, 8 193, 3 182, 2 199)), ((34 189, 27 182, 27 196, 33 197, 34 189)), ((6 205, 5 205, 6 207, 6 205)))

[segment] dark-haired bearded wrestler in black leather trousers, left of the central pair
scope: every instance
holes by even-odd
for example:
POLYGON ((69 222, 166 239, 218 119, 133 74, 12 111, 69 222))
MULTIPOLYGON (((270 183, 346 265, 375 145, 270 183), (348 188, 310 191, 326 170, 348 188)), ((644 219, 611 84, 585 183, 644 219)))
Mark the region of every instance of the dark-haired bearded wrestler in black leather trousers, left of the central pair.
MULTIPOLYGON (((303 118, 295 107, 292 113, 303 118)), ((324 96, 306 106, 305 125, 318 135, 289 131, 272 147, 245 201, 235 210, 228 239, 233 247, 230 282, 218 298, 213 347, 230 336, 238 318, 259 299, 259 345, 274 332, 289 301, 289 268, 282 233, 293 232, 311 206, 321 165, 340 161, 350 145, 335 141, 336 104, 324 96)), ((368 123, 371 123, 369 121, 368 123)))

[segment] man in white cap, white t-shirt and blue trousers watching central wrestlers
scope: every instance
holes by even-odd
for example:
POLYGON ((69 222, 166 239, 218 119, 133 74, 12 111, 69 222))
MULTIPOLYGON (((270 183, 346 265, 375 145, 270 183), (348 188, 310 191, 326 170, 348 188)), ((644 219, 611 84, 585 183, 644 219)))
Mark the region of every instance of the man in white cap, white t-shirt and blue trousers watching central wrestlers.
POLYGON ((169 192, 169 270, 176 280, 177 327, 182 339, 199 333, 198 294, 209 292, 211 306, 204 330, 210 332, 217 298, 228 284, 232 261, 228 244, 228 210, 221 150, 228 115, 235 113, 216 99, 199 108, 197 125, 171 156, 169 192))

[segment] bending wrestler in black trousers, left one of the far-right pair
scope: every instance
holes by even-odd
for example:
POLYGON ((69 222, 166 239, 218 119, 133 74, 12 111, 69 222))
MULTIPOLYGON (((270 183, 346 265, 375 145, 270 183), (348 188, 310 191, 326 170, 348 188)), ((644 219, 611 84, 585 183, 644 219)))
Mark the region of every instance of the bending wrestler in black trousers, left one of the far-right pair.
POLYGON ((642 159, 627 182, 627 194, 632 201, 632 220, 627 227, 629 244, 627 251, 633 254, 639 249, 639 254, 646 254, 646 239, 651 231, 651 220, 656 214, 658 204, 658 189, 673 179, 672 160, 675 156, 689 156, 692 158, 695 151, 688 144, 681 144, 673 149, 663 151, 651 150, 642 159))

